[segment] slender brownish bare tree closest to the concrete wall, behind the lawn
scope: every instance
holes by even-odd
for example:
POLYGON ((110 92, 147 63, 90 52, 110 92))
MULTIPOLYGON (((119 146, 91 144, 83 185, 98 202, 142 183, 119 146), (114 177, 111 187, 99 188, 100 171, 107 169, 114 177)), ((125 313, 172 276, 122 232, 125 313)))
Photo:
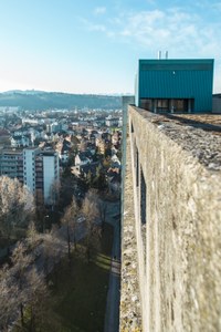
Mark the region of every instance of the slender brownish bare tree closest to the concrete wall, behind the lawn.
POLYGON ((85 246, 87 262, 91 260, 92 252, 97 250, 101 240, 101 225, 97 222, 98 208, 97 208, 98 196, 96 190, 91 189, 86 194, 82 204, 82 214, 85 218, 85 246))

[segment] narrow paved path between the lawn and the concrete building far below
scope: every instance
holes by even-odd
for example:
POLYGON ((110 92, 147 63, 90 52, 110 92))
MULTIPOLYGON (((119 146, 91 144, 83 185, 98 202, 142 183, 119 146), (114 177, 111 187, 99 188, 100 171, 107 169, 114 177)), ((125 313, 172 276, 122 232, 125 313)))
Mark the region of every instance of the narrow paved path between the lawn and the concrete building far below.
POLYGON ((112 269, 105 313, 104 332, 119 331, 119 298, 120 298, 120 227, 119 204, 109 204, 107 222, 114 227, 114 241, 112 250, 112 269))

